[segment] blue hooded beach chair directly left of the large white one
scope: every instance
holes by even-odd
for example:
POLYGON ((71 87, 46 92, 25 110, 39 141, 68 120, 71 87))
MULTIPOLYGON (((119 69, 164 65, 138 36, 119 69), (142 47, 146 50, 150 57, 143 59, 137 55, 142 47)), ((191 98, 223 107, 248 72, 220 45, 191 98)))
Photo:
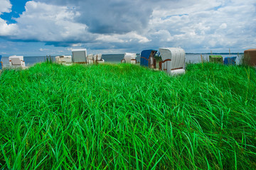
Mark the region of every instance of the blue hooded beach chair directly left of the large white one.
POLYGON ((154 55, 156 50, 143 50, 140 58, 140 65, 145 67, 156 68, 156 59, 154 55))

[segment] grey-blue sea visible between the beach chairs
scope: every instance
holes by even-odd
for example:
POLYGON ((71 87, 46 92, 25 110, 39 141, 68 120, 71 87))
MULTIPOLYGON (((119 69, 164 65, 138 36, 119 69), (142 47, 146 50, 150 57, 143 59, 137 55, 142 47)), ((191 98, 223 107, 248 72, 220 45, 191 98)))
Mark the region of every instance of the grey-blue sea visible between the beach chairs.
MULTIPOLYGON (((209 55, 211 54, 194 54, 194 53, 187 53, 186 54, 186 62, 187 63, 198 63, 201 62, 201 55, 203 61, 208 61, 209 60, 209 55)), ((236 63, 239 64, 240 57, 243 55, 243 53, 240 54, 235 54, 235 55, 230 55, 227 53, 213 53, 212 55, 221 55, 223 59, 225 57, 237 57, 236 63)), ((51 56, 53 60, 55 60, 55 56, 51 56)), ((110 63, 120 63, 121 60, 124 58, 124 54, 114 54, 114 55, 102 55, 102 59, 105 60, 105 62, 110 62, 110 63)), ((136 57, 137 61, 140 61, 140 54, 137 54, 136 57)), ((3 62, 4 67, 9 67, 9 57, 2 57, 1 61, 3 62)), ((31 67, 36 63, 39 62, 45 62, 46 61, 46 56, 24 56, 24 62, 27 67, 31 67)))

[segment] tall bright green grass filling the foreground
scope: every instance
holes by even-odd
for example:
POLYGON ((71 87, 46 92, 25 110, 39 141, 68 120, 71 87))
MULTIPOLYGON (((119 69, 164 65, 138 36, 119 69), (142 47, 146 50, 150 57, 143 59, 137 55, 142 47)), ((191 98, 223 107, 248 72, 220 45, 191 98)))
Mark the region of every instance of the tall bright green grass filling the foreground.
POLYGON ((0 77, 1 169, 256 169, 256 74, 36 64, 0 77))

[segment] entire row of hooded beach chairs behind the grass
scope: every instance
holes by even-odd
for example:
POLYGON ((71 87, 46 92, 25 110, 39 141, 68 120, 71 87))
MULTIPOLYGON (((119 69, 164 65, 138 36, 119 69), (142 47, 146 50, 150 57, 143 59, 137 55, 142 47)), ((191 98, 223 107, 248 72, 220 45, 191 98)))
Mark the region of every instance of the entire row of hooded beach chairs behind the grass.
MULTIPOLYGON (((144 67, 149 67, 156 69, 156 54, 161 56, 161 61, 159 62, 159 70, 163 70, 168 74, 183 74, 185 73, 185 51, 182 48, 174 47, 161 47, 159 52, 156 50, 143 50, 140 57, 140 65, 144 67)), ((245 50, 244 57, 251 66, 256 65, 256 49, 245 50)), ((124 59, 121 60, 122 63, 137 64, 136 53, 125 53, 124 59)), ((221 55, 209 55, 210 62, 219 62, 222 64, 236 64, 236 57, 223 57, 221 55)), ((82 63, 82 64, 93 64, 102 63, 105 60, 102 59, 102 54, 97 55, 87 55, 86 49, 75 49, 72 50, 72 56, 57 56, 55 61, 58 63, 82 63)), ((25 62, 23 56, 11 56, 9 57, 9 64, 11 67, 25 67, 25 62)), ((1 62, 0 55, 0 69, 2 69, 3 63, 1 62)))

